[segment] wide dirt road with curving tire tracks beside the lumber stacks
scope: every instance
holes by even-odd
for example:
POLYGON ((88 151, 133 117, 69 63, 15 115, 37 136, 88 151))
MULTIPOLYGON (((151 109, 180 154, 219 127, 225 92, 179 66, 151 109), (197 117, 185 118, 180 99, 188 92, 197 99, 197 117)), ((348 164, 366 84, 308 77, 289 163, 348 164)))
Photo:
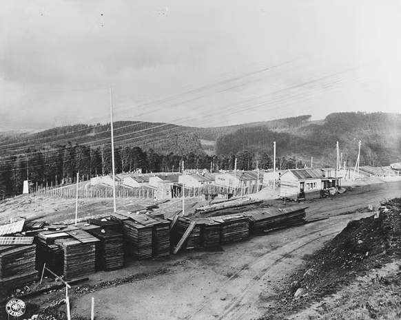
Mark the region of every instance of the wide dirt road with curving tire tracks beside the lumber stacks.
POLYGON ((90 317, 93 296, 98 320, 255 319, 274 303, 275 288, 305 256, 335 237, 350 220, 372 214, 349 212, 366 209, 368 204, 378 207, 384 198, 400 194, 399 180, 355 186, 342 195, 306 204, 307 217, 328 220, 251 237, 224 246, 223 251, 193 250, 163 261, 134 262, 123 272, 143 273, 152 263, 152 268, 167 268, 167 273, 82 295, 73 301, 72 312, 90 317))

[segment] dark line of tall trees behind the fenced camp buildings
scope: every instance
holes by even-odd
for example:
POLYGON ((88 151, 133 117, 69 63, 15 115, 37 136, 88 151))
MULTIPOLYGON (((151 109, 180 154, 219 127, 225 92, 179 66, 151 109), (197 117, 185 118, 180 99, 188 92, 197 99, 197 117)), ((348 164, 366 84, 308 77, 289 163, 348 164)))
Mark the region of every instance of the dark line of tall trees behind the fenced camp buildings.
MULTIPOLYGON (((241 150, 221 156, 207 156, 189 152, 177 154, 156 153, 153 149, 146 151, 138 146, 116 147, 114 149, 116 173, 181 172, 182 161, 185 169, 238 170, 271 169, 272 157, 267 152, 251 153, 241 150)), ((296 167, 294 158, 277 158, 279 169, 296 167)), ((303 167, 302 162, 297 162, 303 167)), ((112 147, 105 144, 101 147, 85 145, 46 146, 41 149, 26 149, 19 155, 12 155, 0 160, 0 194, 3 196, 18 195, 23 191, 23 181, 31 180, 39 186, 55 186, 88 180, 97 175, 112 173, 112 147)))

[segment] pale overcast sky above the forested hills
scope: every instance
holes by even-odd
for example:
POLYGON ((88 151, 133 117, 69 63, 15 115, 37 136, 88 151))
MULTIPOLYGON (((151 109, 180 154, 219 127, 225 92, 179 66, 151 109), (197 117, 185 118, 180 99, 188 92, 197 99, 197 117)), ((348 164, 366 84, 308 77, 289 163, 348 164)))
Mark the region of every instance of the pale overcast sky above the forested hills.
POLYGON ((401 0, 0 1, 0 131, 401 111, 401 0))

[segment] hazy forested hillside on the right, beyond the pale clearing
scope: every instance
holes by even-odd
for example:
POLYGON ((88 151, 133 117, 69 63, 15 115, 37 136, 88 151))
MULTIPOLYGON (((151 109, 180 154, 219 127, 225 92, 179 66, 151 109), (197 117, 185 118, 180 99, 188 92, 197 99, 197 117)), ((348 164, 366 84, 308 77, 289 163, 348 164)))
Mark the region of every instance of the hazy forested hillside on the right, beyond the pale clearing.
MULTIPOLYGON (((317 165, 336 164, 336 142, 339 142, 342 160, 355 164, 358 141, 361 145, 361 164, 388 165, 401 158, 401 116, 376 112, 336 113, 325 118, 322 125, 303 125, 295 129, 272 130, 264 125, 245 127, 216 141, 218 156, 247 150, 250 153, 272 154, 276 141, 278 156, 294 156, 317 165)), ((343 164, 343 163, 342 163, 343 164)))

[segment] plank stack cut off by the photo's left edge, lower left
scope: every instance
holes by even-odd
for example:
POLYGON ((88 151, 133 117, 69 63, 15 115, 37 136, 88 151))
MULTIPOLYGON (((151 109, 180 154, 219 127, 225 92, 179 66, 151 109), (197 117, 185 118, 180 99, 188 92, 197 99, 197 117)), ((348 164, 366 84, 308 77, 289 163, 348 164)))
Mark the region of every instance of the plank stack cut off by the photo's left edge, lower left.
POLYGON ((0 246, 1 294, 22 288, 37 279, 35 247, 34 244, 0 246))

